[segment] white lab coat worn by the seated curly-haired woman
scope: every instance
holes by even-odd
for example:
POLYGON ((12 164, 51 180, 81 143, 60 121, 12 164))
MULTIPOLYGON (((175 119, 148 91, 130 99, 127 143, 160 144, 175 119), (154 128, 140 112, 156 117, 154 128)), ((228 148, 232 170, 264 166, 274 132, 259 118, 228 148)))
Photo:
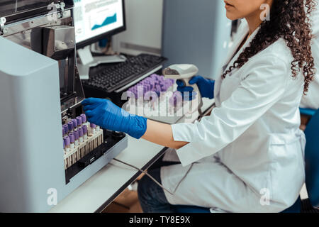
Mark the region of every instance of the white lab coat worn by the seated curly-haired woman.
MULTIPOLYGON (((248 33, 247 23, 242 26, 226 62, 248 33)), ((296 201, 305 180, 306 139, 298 128, 303 77, 291 77, 292 60, 285 41, 276 41, 231 76, 216 80, 211 116, 172 126, 174 140, 189 144, 164 156, 174 160, 177 155, 181 162, 161 168, 164 187, 177 188, 174 195, 165 192, 170 204, 279 212, 296 201)))

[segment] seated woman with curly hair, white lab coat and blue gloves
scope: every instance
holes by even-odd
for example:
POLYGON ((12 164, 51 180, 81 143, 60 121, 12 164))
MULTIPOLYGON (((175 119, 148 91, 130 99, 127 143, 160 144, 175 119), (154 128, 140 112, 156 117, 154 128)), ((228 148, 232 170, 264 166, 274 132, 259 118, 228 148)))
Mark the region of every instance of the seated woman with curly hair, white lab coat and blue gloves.
POLYGON ((208 79, 193 80, 202 96, 215 97, 211 116, 170 126, 111 101, 83 102, 89 121, 177 150, 181 164, 150 171, 169 192, 147 177, 139 183, 145 212, 174 211, 172 204, 279 212, 296 201, 305 180, 298 106, 314 75, 313 1, 228 0, 225 8, 228 18, 245 18, 247 27, 214 87, 208 79), (261 20, 262 4, 269 5, 270 20, 261 20))

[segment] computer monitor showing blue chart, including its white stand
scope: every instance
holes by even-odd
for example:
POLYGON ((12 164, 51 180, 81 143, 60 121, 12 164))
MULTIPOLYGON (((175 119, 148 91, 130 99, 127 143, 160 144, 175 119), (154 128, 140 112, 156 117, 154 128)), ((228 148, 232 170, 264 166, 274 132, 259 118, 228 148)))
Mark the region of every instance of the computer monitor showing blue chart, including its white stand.
POLYGON ((124 0, 74 0, 74 28, 81 79, 89 79, 90 67, 125 61, 122 55, 93 57, 86 47, 125 31, 124 0))

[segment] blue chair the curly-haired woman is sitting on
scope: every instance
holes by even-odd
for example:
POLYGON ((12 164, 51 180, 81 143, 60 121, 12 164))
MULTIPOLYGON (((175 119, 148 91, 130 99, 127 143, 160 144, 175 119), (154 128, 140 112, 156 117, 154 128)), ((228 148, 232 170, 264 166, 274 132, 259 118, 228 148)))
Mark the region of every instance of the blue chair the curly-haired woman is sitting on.
MULTIPOLYGON (((311 114, 308 111, 308 114, 311 114)), ((319 213, 319 110, 310 119, 306 134, 306 188, 308 199, 299 197, 295 204, 283 213, 319 213)), ((173 206, 177 213, 210 213, 209 209, 198 206, 173 206)))

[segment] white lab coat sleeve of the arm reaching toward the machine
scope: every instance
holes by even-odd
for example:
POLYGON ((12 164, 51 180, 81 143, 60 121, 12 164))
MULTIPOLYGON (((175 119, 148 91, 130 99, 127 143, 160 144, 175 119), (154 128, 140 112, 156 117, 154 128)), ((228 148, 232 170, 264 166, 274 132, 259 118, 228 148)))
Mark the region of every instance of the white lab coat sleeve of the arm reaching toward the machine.
POLYGON ((217 153, 281 99, 291 79, 290 66, 276 56, 259 58, 246 63, 250 70, 241 75, 239 87, 211 116, 172 125, 174 140, 189 142, 177 150, 182 165, 217 153))

